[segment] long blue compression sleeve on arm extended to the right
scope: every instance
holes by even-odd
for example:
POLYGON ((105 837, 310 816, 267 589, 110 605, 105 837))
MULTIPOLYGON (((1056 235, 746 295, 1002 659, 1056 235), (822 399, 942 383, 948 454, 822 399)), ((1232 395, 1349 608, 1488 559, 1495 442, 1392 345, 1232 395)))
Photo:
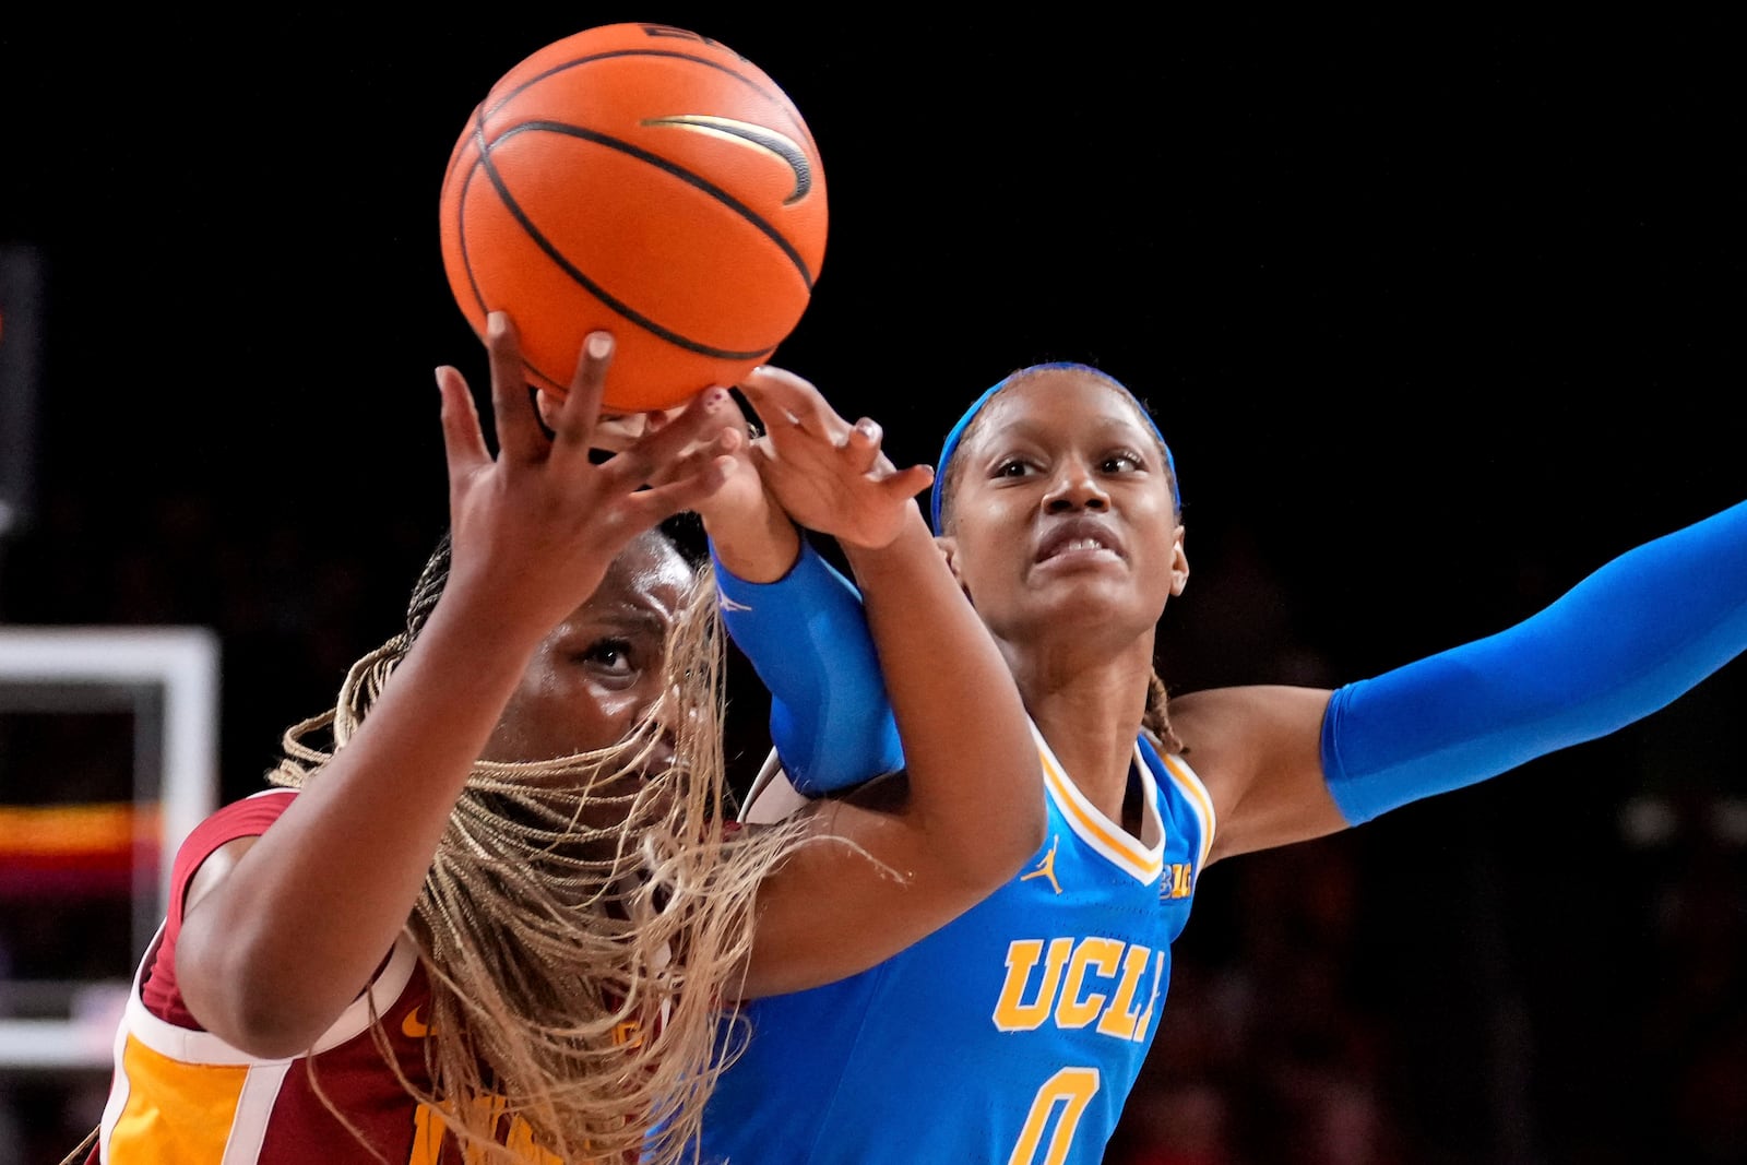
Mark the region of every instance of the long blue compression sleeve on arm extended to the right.
POLYGON ((1487 639, 1335 692, 1322 772, 1350 824, 1607 735, 1747 648, 1747 503, 1635 547, 1487 639))

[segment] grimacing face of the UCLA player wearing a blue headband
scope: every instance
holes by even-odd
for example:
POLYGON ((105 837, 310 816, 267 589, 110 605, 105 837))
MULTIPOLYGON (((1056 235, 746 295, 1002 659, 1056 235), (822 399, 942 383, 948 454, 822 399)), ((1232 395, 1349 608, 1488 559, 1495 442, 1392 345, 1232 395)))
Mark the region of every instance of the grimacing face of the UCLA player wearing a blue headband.
POLYGON ((984 405, 957 458, 945 545, 1001 639, 1132 638, 1183 589, 1164 454, 1122 389, 1032 374, 984 405))

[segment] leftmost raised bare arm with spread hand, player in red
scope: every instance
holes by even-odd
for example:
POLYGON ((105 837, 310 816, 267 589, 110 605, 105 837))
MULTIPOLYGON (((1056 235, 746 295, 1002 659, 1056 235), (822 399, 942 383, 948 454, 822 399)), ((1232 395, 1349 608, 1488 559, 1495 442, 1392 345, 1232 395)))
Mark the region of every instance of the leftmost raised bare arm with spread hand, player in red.
POLYGON ((727 393, 592 465, 610 342, 590 337, 547 437, 514 334, 489 330, 500 452, 438 369, 452 562, 442 597, 358 732, 285 814, 196 875, 176 952, 194 1017, 255 1055, 295 1055, 367 985, 418 901, 449 812, 536 645, 639 531, 695 505, 725 459, 657 489, 653 465, 722 424, 727 393))

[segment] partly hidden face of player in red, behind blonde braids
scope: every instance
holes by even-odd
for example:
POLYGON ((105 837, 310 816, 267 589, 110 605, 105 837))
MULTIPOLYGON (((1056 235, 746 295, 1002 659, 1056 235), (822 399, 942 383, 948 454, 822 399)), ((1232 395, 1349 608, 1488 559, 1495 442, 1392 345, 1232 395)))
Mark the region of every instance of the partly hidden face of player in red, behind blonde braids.
MULTIPOLYGON (((667 634, 690 585, 692 571, 671 543, 631 543, 589 601, 535 650, 486 760, 550 760, 622 741, 666 695, 667 634)), ((671 755, 671 742, 660 741, 648 767, 671 755)))

